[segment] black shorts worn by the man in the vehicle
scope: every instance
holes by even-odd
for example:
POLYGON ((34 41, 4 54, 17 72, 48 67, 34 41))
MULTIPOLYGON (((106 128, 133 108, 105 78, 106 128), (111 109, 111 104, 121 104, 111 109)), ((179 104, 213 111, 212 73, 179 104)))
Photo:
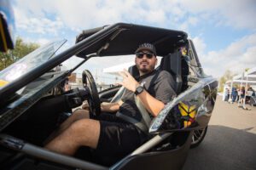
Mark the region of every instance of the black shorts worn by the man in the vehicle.
POLYGON ((135 125, 113 114, 102 113, 96 119, 100 121, 101 132, 95 153, 108 163, 127 156, 148 139, 135 125))

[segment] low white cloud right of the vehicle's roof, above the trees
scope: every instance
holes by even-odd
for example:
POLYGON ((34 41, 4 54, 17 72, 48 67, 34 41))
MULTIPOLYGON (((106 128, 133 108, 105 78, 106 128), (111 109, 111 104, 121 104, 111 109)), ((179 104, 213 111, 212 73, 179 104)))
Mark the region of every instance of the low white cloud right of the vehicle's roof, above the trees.
MULTIPOLYGON (((232 42, 227 48, 204 54, 204 42, 195 38, 195 47, 199 46, 199 58, 205 72, 214 77, 221 77, 224 71, 240 73, 246 68, 256 66, 256 34, 242 37, 232 42)), ((197 47, 196 47, 197 48, 197 47)))

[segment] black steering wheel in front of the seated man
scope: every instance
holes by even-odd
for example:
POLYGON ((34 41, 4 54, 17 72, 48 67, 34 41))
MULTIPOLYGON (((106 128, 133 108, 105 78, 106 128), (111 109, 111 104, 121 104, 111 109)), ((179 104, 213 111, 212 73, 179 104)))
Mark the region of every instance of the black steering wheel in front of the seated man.
POLYGON ((101 100, 96 88, 96 83, 90 71, 83 71, 82 81, 84 88, 89 89, 89 98, 87 101, 90 108, 90 113, 94 116, 99 116, 101 114, 101 100))

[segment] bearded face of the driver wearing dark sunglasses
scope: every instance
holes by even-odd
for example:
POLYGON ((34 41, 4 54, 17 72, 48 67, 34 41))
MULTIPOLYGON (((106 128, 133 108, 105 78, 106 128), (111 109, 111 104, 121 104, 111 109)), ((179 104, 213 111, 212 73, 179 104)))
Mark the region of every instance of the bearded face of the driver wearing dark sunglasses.
POLYGON ((137 65, 137 69, 141 73, 146 74, 154 71, 154 66, 157 64, 157 58, 152 52, 143 50, 137 53, 135 63, 137 65))

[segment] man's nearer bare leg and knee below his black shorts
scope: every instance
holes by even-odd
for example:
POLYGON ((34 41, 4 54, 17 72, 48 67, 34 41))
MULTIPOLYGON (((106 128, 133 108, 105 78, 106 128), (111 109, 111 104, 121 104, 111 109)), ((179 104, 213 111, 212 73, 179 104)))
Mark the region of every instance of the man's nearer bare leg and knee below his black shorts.
POLYGON ((100 137, 100 122, 81 119, 46 144, 45 148, 61 154, 72 156, 80 146, 96 148, 100 137))

